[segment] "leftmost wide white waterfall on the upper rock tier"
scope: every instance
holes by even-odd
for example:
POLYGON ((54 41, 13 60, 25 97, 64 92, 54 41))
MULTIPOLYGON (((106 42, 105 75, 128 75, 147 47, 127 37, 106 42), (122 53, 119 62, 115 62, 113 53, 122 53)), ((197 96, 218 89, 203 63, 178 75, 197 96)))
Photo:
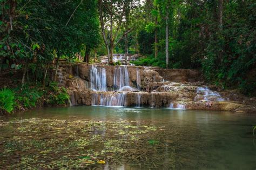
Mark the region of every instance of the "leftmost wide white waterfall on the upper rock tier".
POLYGON ((95 91, 107 91, 106 70, 97 65, 90 66, 91 89, 95 91))

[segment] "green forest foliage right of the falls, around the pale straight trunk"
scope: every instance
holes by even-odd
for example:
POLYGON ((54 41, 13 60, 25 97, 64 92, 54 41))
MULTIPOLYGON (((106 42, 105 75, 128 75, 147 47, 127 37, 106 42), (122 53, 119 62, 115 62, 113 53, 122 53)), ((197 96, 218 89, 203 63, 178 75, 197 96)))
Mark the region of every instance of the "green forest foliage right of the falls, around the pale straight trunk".
POLYGON ((145 10, 151 11, 145 11, 146 23, 138 31, 138 43, 140 54, 149 57, 134 64, 165 67, 165 16, 168 12, 170 68, 201 69, 208 82, 255 96, 256 3, 224 1, 221 27, 219 2, 146 2, 145 10), (158 59, 152 57, 156 28, 158 59))

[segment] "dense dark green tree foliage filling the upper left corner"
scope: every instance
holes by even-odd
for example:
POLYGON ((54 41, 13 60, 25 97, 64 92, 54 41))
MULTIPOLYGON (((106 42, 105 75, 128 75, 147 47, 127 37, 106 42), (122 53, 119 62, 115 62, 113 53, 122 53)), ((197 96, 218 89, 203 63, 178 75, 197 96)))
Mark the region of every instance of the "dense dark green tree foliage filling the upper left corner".
POLYGON ((1 4, 1 69, 31 69, 34 64, 42 70, 53 58, 73 58, 100 40, 95 0, 3 0, 1 4))

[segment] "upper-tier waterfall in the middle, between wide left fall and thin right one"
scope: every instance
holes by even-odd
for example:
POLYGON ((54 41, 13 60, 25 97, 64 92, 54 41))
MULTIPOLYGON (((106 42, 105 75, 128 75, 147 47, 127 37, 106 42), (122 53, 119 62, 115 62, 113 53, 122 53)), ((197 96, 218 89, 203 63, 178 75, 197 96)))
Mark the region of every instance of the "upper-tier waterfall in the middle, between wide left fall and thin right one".
POLYGON ((130 86, 129 84, 129 73, 127 66, 120 66, 114 69, 114 90, 119 90, 123 86, 130 86))

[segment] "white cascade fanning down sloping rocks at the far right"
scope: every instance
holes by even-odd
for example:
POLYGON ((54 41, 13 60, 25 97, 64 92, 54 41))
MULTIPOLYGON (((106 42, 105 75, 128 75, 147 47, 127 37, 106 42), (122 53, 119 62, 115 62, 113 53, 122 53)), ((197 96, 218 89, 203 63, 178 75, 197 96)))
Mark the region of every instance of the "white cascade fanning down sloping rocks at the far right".
POLYGON ((194 101, 200 99, 200 94, 203 94, 204 100, 209 101, 211 97, 214 97, 217 101, 223 101, 224 98, 220 96, 218 92, 211 91, 208 87, 197 87, 197 96, 194 97, 194 101))

